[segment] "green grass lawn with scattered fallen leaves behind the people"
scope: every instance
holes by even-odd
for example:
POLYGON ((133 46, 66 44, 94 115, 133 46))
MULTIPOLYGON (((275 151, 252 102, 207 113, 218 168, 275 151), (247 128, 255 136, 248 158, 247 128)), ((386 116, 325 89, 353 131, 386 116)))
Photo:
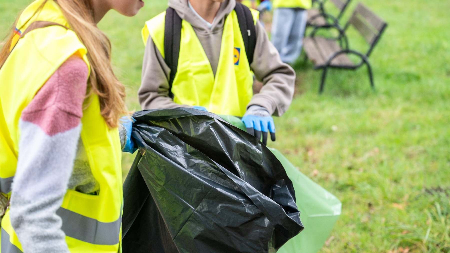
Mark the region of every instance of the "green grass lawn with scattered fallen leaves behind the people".
MULTIPOLYGON (((1 37, 29 2, 1 1, 1 37)), ((318 95, 321 72, 299 61, 296 97, 275 119, 278 140, 270 146, 342 201, 322 252, 448 253, 450 1, 362 2, 389 24, 370 57, 377 90, 363 67, 330 71, 318 95)), ((165 8, 165 0, 146 0, 137 17, 111 12, 99 24, 111 38, 130 109, 140 109, 140 29, 165 8)), ((124 154, 124 175, 132 159, 124 154)))

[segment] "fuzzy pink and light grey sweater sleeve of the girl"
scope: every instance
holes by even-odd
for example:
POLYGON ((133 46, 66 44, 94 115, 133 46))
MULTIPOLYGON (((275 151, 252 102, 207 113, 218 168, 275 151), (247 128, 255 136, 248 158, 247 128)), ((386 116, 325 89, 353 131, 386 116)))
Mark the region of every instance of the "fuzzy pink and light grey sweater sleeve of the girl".
POLYGON ((56 211, 73 170, 87 77, 72 56, 22 112, 10 217, 24 252, 69 252, 56 211))

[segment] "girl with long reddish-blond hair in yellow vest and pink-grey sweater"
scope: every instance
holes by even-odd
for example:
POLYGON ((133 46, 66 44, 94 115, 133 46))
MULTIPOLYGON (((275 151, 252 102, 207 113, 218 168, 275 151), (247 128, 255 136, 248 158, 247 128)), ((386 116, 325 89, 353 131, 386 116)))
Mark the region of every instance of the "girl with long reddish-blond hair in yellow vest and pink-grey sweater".
POLYGON ((36 0, 14 24, 0 51, 2 253, 121 251, 121 150, 127 136, 134 150, 132 123, 119 123, 125 87, 97 23, 110 9, 134 16, 143 6, 36 0))

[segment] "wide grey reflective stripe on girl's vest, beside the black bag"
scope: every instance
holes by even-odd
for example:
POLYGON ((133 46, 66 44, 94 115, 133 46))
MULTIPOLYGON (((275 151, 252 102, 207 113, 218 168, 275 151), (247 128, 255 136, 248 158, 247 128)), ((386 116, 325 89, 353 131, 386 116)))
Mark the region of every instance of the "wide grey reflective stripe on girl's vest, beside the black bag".
POLYGON ((63 220, 62 230, 69 237, 90 244, 114 245, 119 243, 122 217, 119 217, 117 221, 105 223, 65 208, 59 208, 56 214, 63 220))

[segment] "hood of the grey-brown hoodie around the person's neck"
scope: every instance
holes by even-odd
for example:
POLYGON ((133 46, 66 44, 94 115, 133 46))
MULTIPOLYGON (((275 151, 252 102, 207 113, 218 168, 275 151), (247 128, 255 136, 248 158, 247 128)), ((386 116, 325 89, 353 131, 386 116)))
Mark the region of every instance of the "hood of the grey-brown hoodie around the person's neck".
POLYGON ((236 0, 225 0, 220 4, 216 19, 212 24, 211 29, 192 11, 188 6, 188 0, 169 0, 169 7, 175 9, 180 18, 189 22, 196 32, 200 33, 216 33, 222 30, 225 18, 233 11, 236 6, 236 0))

